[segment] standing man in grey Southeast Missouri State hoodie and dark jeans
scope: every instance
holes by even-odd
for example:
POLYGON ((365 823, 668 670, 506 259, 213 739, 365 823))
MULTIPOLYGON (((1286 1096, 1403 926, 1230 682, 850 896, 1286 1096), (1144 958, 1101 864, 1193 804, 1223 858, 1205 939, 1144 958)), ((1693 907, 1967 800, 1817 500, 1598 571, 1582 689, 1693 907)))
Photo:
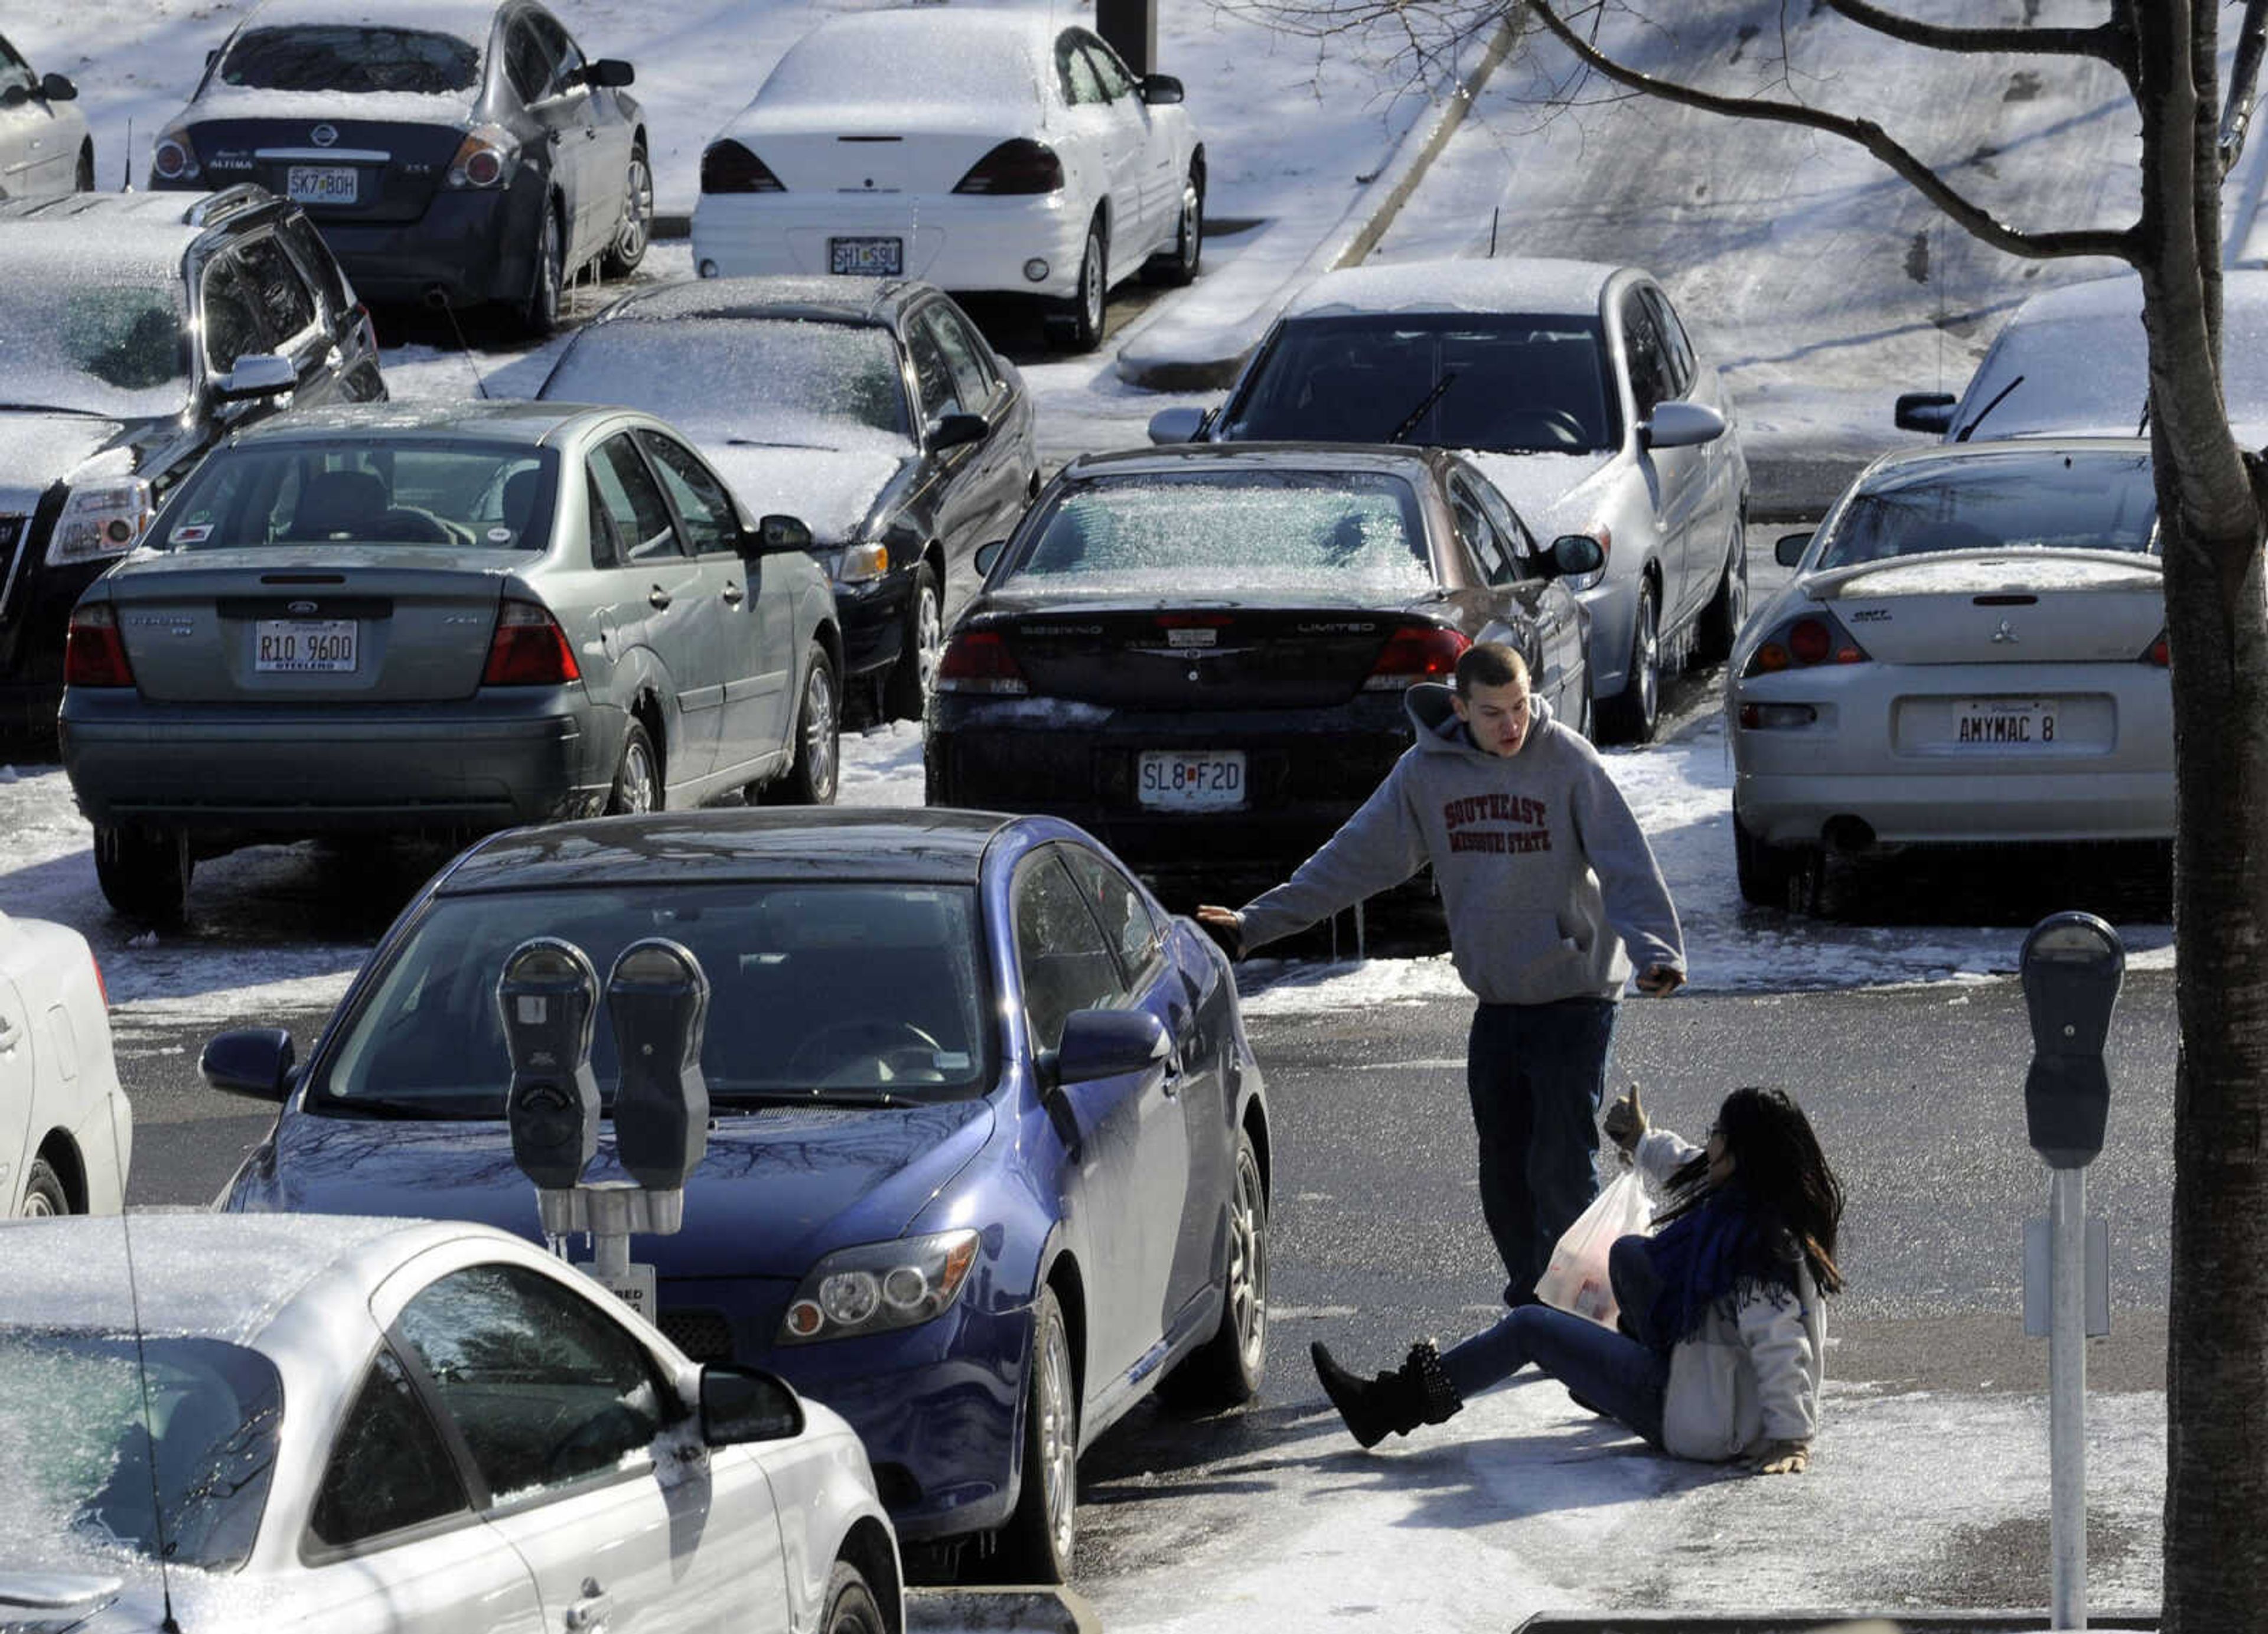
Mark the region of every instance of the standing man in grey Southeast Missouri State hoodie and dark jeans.
POLYGON ((1465 1049, 1481 1212, 1510 1278, 1504 1303, 1522 1305, 1597 1190, 1624 984, 1635 965, 1640 993, 1674 993, 1685 943, 1599 750, 1529 693, 1520 653, 1483 641, 1456 687, 1411 687, 1406 707, 1417 741, 1363 809, 1286 884, 1198 918, 1259 947, 1433 866, 1456 975, 1481 1002, 1465 1049))

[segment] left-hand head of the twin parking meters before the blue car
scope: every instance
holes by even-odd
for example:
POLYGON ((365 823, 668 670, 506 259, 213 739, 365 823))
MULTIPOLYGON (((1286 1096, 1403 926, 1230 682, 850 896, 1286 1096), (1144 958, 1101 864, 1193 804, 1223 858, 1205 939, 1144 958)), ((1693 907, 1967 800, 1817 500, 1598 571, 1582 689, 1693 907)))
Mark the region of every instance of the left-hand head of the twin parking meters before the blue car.
POLYGON ((590 1036, 599 1022, 599 972, 574 943, 531 936, 497 979, 513 1088, 503 1101, 513 1163, 542 1190, 583 1178, 599 1149, 599 1081, 590 1036))

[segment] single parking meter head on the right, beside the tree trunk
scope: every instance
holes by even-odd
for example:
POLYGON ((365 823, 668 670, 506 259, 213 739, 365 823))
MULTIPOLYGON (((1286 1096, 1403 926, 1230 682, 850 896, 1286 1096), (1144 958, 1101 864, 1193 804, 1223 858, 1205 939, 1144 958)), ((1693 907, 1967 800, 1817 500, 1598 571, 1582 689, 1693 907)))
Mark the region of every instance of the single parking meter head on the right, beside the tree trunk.
POLYGON ((2050 1169, 2084 1169, 2102 1151, 2109 1117, 2102 1042, 2125 977, 2125 947, 2093 913, 2050 913, 2023 938, 2021 968, 2032 1015, 2032 1070, 2023 1081, 2032 1149, 2050 1169))

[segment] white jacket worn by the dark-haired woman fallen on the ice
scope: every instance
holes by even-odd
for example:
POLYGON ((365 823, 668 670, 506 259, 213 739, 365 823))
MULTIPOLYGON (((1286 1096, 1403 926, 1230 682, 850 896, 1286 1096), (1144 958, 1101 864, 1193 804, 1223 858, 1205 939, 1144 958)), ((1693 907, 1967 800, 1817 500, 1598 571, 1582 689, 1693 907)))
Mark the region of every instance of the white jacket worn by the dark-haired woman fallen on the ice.
MULTIPOLYGON (((1649 1129, 1633 1158, 1656 1185, 1701 1156, 1667 1129, 1649 1129)), ((1730 1317, 1710 1310, 1669 1353, 1662 1448, 1724 1462, 1767 1441, 1810 1441, 1819 1430, 1826 1314, 1810 1265, 1796 1265, 1796 1301, 1749 1294, 1730 1317)))

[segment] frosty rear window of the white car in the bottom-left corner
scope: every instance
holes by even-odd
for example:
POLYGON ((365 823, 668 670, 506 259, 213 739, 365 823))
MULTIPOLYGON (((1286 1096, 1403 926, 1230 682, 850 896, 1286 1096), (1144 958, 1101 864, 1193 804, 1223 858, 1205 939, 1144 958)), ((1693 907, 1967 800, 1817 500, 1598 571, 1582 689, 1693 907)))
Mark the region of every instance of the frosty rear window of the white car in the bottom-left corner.
POLYGON ((0 1566, 93 1550, 236 1571, 281 1416, 274 1364, 238 1344, 0 1328, 0 1566))

